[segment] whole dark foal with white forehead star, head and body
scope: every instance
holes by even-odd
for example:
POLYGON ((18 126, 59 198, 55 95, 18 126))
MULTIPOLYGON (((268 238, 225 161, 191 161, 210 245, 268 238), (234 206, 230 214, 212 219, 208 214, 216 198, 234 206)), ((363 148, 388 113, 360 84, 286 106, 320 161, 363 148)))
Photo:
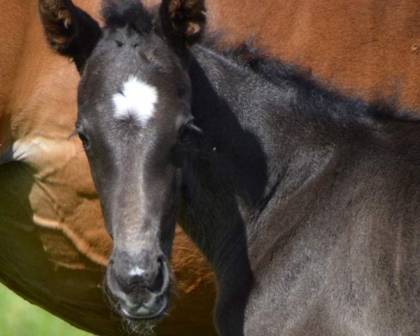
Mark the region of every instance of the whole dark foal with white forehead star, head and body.
POLYGON ((165 312, 179 218, 214 266, 221 335, 419 335, 419 123, 195 44, 202 0, 103 14, 101 29, 41 1, 82 75, 76 127, 122 313, 165 312))

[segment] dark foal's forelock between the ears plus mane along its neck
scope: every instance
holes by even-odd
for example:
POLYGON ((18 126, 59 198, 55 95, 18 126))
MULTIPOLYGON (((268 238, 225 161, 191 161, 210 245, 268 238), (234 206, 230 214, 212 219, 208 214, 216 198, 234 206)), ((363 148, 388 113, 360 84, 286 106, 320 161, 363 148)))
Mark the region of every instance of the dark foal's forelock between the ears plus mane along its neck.
MULTIPOLYGON (((155 28, 157 10, 158 7, 144 8, 140 0, 105 0, 102 3, 102 17, 106 27, 127 27, 129 33, 134 31, 140 35, 148 34, 155 28)), ((346 97, 332 89, 328 83, 314 78, 311 71, 303 71, 297 66, 274 59, 253 48, 253 43, 231 46, 221 43, 223 34, 204 35, 201 44, 226 57, 232 64, 248 69, 276 86, 293 87, 296 92, 293 108, 307 115, 316 113, 316 118, 333 118, 349 123, 356 120, 365 120, 369 124, 372 120, 420 123, 414 111, 399 108, 398 97, 381 97, 370 103, 356 97, 346 97)))

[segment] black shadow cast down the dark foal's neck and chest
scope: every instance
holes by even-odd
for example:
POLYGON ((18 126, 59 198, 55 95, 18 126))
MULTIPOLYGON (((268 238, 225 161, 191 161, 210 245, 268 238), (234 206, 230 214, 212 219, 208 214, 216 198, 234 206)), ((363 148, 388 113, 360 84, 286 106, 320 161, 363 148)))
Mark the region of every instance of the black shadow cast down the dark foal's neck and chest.
MULTIPOLYGON (((209 73, 197 60, 191 59, 189 66, 193 116, 204 134, 193 135, 185 144, 186 218, 182 225, 216 271, 215 318, 219 332, 244 335, 245 307, 253 286, 247 246, 248 211, 258 209, 264 200, 267 158, 258 131, 245 115, 246 106, 232 109, 228 97, 216 92, 209 73)), ((226 87, 227 92, 232 90, 235 88, 226 87)))

